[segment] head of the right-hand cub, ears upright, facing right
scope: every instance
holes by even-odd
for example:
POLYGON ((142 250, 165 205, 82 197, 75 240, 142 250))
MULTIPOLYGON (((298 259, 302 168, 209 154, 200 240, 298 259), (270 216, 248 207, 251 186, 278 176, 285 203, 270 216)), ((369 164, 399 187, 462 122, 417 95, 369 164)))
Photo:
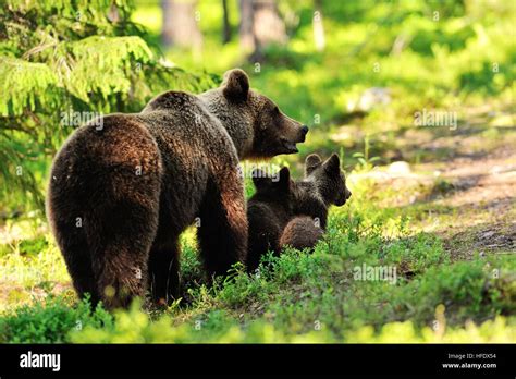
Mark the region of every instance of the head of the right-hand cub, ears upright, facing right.
POLYGON ((305 179, 302 183, 309 188, 308 192, 318 194, 327 206, 343 206, 352 196, 336 154, 325 161, 317 154, 309 155, 305 160, 305 179))

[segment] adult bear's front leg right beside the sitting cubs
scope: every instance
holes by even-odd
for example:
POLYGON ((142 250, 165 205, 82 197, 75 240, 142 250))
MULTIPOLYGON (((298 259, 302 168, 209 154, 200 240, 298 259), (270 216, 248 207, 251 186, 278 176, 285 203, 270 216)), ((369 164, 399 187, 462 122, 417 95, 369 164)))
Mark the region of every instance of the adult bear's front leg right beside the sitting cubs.
POLYGON ((208 183, 197 236, 209 278, 223 276, 247 255, 247 215, 238 171, 228 170, 208 183))

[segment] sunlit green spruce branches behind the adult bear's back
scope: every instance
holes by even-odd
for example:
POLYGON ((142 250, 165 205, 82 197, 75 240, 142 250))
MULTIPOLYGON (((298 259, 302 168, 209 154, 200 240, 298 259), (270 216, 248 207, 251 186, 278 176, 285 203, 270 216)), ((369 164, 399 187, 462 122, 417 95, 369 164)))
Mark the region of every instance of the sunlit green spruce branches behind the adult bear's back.
MULTIPOLYGON (((136 112, 155 95, 220 77, 165 61, 126 0, 0 1, 0 200, 42 209, 50 159, 79 125, 70 112, 136 112)), ((7 217, 3 215, 3 217, 7 217)))

